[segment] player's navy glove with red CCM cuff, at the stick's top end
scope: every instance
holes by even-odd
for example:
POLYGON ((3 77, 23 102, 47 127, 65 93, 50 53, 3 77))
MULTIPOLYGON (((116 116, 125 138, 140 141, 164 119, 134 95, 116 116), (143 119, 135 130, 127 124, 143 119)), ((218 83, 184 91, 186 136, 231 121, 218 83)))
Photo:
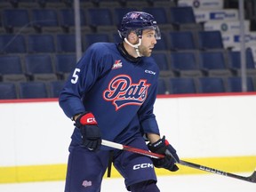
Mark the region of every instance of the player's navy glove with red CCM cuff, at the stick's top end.
POLYGON ((101 132, 95 117, 90 112, 84 112, 76 118, 76 127, 80 129, 85 148, 97 151, 101 145, 101 132))

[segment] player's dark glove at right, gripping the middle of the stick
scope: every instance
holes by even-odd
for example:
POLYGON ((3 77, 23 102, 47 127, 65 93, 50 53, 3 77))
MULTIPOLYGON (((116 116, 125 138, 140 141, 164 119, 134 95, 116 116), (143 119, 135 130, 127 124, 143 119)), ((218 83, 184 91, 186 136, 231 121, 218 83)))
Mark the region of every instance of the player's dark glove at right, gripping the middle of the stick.
POLYGON ((179 170, 176 163, 180 162, 180 158, 176 154, 176 150, 169 144, 168 140, 165 140, 165 136, 155 143, 149 143, 148 149, 153 153, 165 155, 162 159, 152 158, 153 164, 157 168, 164 168, 171 172, 179 170))

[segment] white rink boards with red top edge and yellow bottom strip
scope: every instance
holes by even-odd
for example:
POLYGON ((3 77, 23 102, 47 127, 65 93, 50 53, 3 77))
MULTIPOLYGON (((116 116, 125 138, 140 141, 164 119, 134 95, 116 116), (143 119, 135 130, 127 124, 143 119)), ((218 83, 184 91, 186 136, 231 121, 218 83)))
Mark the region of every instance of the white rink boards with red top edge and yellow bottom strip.
MULTIPOLYGON (((0 183, 64 180, 73 123, 57 100, 0 101, 0 183)), ((156 119, 181 159, 226 172, 256 165, 256 94, 159 96, 156 119)), ((170 173, 200 173, 180 167, 170 173)), ((120 175, 114 169, 113 177, 120 175)))

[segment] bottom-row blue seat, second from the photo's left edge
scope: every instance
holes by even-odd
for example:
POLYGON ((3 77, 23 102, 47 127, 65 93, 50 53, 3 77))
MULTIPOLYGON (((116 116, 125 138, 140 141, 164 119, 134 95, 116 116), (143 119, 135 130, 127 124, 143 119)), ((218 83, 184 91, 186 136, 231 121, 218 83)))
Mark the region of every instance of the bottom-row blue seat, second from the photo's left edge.
POLYGON ((20 99, 48 98, 46 84, 43 82, 22 82, 19 84, 20 99))

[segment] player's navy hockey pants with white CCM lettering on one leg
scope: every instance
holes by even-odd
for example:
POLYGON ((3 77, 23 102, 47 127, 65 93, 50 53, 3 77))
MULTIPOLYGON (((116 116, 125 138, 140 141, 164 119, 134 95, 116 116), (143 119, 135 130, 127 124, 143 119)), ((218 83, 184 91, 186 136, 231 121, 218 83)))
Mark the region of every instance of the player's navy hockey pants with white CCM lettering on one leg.
MULTIPOLYGON (((142 137, 135 138, 126 145, 148 150, 142 137)), ((73 142, 71 142, 69 150, 65 192, 100 192, 102 177, 108 167, 109 151, 93 152, 73 142)), ((115 150, 113 162, 116 170, 124 177, 125 186, 128 190, 130 190, 131 185, 134 186, 138 183, 144 183, 143 188, 145 188, 147 182, 144 181, 148 180, 149 188, 152 188, 152 183, 153 186, 155 185, 156 173, 150 157, 115 150)), ((136 188, 138 186, 140 187, 140 185, 137 185, 136 188)), ((115 186, 113 186, 113 191, 116 191, 115 186)), ((137 189, 134 191, 137 191, 137 189)), ((155 185, 151 191, 157 192, 159 189, 155 185)))

